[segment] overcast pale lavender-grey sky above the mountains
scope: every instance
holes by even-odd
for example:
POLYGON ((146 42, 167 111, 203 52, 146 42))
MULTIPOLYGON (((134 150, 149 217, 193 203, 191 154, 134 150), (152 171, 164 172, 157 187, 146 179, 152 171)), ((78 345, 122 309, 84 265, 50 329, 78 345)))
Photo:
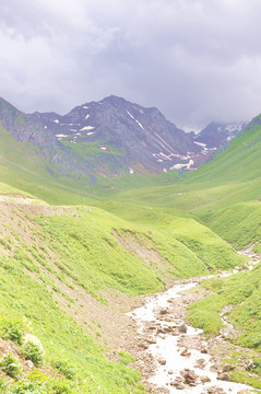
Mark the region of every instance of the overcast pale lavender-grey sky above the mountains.
POLYGON ((116 94, 178 126, 261 113, 260 0, 1 0, 0 96, 66 114, 116 94))

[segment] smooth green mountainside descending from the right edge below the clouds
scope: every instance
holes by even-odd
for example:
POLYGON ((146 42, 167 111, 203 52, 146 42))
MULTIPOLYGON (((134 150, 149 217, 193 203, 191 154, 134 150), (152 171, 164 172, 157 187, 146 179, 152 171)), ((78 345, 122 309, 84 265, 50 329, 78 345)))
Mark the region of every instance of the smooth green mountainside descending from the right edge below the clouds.
POLYGON ((214 160, 182 182, 163 187, 139 188, 115 196, 119 200, 139 201, 200 215, 222 210, 236 202, 260 199, 261 117, 254 118, 214 160))

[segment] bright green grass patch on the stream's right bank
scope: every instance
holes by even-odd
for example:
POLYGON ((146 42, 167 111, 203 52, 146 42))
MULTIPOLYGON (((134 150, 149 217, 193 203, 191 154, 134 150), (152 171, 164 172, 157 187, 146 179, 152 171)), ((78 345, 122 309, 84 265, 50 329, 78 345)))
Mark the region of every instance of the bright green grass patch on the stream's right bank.
POLYGON ((214 294, 189 308, 191 323, 205 334, 217 334, 223 326, 221 315, 225 305, 235 305, 228 322, 239 331, 236 344, 261 350, 261 265, 229 278, 213 278, 203 286, 214 294))

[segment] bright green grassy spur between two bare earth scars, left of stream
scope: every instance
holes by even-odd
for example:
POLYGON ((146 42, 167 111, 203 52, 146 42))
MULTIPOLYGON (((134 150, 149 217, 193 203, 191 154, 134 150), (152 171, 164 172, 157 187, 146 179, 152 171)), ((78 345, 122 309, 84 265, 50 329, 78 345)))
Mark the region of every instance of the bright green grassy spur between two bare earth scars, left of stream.
POLYGON ((100 216, 82 209, 80 217, 44 217, 37 222, 52 240, 49 246, 67 274, 93 296, 108 288, 132 296, 163 289, 156 275, 120 247, 105 223, 100 225, 100 216))

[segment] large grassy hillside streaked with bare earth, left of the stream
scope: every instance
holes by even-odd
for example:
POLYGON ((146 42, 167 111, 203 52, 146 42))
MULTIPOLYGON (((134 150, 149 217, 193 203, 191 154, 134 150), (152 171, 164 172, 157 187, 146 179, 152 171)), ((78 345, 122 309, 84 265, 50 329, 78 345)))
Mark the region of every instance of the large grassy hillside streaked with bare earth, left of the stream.
MULTIPOLYGON (((16 189, 14 192, 16 194, 16 189)), ((17 201, 20 202, 20 200, 17 201)), ((28 392, 54 394, 143 392, 143 389, 139 389, 137 385, 140 381, 139 373, 128 369, 120 361, 108 361, 105 349, 95 340, 95 332, 93 335, 91 334, 88 323, 80 326, 76 315, 73 317, 66 312, 68 308, 76 311, 80 289, 85 290, 86 294, 98 292, 100 288, 107 287, 119 287, 126 292, 131 292, 128 283, 121 283, 122 267, 114 266, 115 262, 108 253, 104 255, 103 262, 90 262, 90 256, 87 262, 84 260, 87 256, 80 258, 84 253, 83 250, 87 247, 86 245, 82 246, 82 242, 86 243, 86 240, 78 240, 75 236, 76 231, 80 231, 79 221, 76 225, 72 223, 73 220, 78 220, 78 216, 81 219, 80 215, 83 216, 74 210, 70 211, 70 208, 55 210, 40 204, 34 206, 15 204, 15 199, 11 196, 7 197, 1 205, 0 336, 4 337, 7 323, 10 327, 8 338, 11 338, 17 332, 16 327, 21 326, 24 331, 36 335, 45 350, 45 364, 44 369, 40 366, 41 372, 32 374, 24 367, 20 373, 20 383, 16 384, 15 380, 13 382, 9 380, 9 389, 4 391, 3 386, 8 381, 1 367, 4 359, 2 357, 3 349, 9 349, 15 354, 16 358, 22 359, 22 348, 17 346, 14 348, 8 339, 5 339, 7 345, 2 340, 0 350, 1 393, 27 393, 26 387, 31 387, 28 392), (10 204, 8 198, 10 198, 10 204), (55 237, 52 233, 48 232, 49 216, 44 219, 41 212, 48 212, 49 216, 55 215, 57 225, 63 227, 66 222, 68 225, 69 222, 71 223, 71 233, 63 233, 63 240, 68 241, 68 237, 71 237, 72 245, 62 245, 61 239, 55 237), (35 219, 36 217, 38 219, 35 219), (73 248, 78 251, 76 256, 72 255, 73 248), (110 257, 109 262, 107 262, 108 257, 110 257), (110 267, 110 271, 105 273, 103 278, 102 271, 105 267, 100 268, 100 263, 105 262, 107 268, 110 267), (97 278, 94 278, 95 269, 92 269, 94 263, 100 269, 98 282, 97 278), (78 297, 73 296, 78 293, 78 297), (66 308, 66 305, 68 306, 66 308), (64 379, 54 371, 54 364, 57 362, 69 363, 68 368, 74 374, 73 380, 64 379), (21 391, 17 391, 19 387, 21 391)), ((92 234, 95 236, 95 229, 92 229, 92 234)), ((98 252, 102 247, 104 248, 102 252, 105 253, 107 242, 104 240, 104 244, 102 246, 99 244, 106 236, 105 232, 96 230, 95 242, 99 247, 98 252)), ((96 252, 91 242, 90 250, 93 250, 93 254, 96 252)), ((118 251, 118 262, 124 257, 122 254, 124 251, 118 251)), ((100 258, 102 256, 100 254, 100 258)), ((94 258, 94 256, 92 257, 94 258)), ((117 259, 117 251, 115 258, 117 259)), ((129 267, 129 271, 126 273, 126 276, 133 277, 134 293, 155 291, 162 288, 161 281, 153 273, 143 267, 141 262, 129 256, 129 262, 123 268, 127 267, 129 267), (142 283, 140 289, 139 274, 141 275, 143 271, 147 282, 145 287, 142 283)), ((95 297, 100 302, 105 301, 102 296, 95 293, 95 297)))

